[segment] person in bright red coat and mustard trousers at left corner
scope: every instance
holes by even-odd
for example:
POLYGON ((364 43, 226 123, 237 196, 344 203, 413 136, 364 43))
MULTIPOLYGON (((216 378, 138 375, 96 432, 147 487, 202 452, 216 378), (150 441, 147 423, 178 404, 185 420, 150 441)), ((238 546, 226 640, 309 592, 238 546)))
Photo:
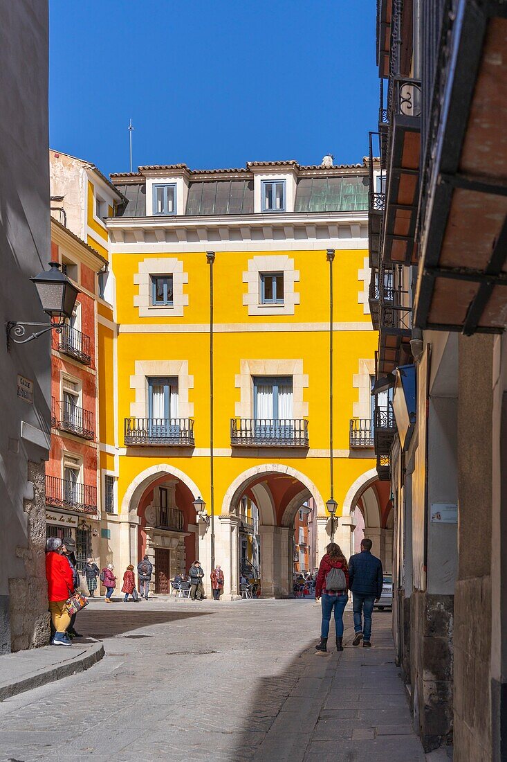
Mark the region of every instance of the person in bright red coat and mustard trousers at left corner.
POLYGON ((66 632, 71 621, 66 603, 69 595, 74 592, 74 575, 69 562, 62 555, 62 540, 59 537, 49 537, 46 542, 46 580, 49 613, 55 629, 51 643, 72 645, 66 632))

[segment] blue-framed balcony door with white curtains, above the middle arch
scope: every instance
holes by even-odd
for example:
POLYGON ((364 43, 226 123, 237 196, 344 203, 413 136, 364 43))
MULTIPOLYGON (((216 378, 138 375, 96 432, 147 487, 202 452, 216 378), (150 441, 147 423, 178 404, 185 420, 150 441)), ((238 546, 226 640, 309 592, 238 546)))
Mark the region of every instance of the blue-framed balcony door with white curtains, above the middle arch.
POLYGON ((294 436, 292 423, 292 376, 253 379, 255 436, 286 439, 294 436))

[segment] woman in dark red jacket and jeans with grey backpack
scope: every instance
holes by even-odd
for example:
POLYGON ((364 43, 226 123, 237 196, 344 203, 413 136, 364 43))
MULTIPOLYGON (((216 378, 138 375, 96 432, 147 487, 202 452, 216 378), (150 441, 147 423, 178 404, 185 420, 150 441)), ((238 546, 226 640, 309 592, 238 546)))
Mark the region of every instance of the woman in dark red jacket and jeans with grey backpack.
POLYGON ((336 651, 343 651, 343 611, 349 600, 348 588, 349 568, 346 558, 339 545, 330 543, 326 548, 326 555, 320 561, 315 584, 315 600, 322 599, 320 642, 315 646, 317 651, 327 651, 327 637, 333 610, 336 651))

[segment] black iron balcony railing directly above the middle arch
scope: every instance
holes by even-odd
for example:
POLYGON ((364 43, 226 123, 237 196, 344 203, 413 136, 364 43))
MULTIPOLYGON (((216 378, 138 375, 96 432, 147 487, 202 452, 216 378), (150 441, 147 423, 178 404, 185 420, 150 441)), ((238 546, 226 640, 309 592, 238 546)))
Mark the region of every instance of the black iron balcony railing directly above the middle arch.
POLYGON ((308 447, 308 421, 305 418, 231 418, 231 444, 308 447))

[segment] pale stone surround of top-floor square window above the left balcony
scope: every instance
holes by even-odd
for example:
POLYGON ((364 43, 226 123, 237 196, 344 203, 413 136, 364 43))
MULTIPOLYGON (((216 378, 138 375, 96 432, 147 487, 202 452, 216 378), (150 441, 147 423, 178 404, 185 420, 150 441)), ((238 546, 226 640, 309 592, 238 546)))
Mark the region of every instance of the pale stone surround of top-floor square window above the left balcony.
POLYGON ((183 293, 183 283, 188 283, 188 274, 183 272, 183 262, 175 257, 143 259, 134 274, 134 284, 139 286, 139 295, 134 296, 134 306, 139 309, 140 318, 180 318, 183 308, 188 306, 188 294, 183 293), (173 276, 173 305, 155 306, 151 303, 150 275, 173 276))

